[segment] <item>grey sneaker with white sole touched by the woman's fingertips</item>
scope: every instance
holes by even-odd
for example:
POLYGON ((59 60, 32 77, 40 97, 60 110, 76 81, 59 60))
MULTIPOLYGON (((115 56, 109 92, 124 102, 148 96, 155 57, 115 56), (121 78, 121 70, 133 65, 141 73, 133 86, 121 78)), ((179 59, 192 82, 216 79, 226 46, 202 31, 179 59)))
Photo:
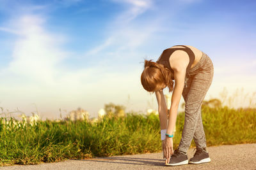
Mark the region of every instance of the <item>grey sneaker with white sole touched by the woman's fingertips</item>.
POLYGON ((188 154, 181 152, 179 148, 174 150, 173 155, 170 158, 169 164, 165 164, 166 166, 181 166, 188 164, 188 154))

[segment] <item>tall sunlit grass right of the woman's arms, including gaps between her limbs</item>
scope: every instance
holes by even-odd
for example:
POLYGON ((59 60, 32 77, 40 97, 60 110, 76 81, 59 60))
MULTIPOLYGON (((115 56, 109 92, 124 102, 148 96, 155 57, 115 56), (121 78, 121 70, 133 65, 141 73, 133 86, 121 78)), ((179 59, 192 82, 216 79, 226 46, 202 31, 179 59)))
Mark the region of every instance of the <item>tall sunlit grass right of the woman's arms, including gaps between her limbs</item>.
MULTIPOLYGON (((184 113, 177 117, 177 144, 184 125, 184 113)), ((256 143, 256 108, 202 107, 207 146, 256 143)), ((191 146, 195 146, 194 141, 191 146)))

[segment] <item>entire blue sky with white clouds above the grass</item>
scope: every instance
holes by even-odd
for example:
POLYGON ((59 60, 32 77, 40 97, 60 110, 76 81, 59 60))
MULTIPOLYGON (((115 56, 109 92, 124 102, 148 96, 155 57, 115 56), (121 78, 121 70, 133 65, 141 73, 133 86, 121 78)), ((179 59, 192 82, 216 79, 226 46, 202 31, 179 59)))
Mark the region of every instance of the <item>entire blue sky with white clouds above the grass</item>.
POLYGON ((140 75, 144 59, 156 61, 173 45, 211 58, 205 100, 253 96, 255 7, 254 0, 0 0, 0 107, 43 119, 77 108, 97 117, 108 103, 157 110, 140 75))

